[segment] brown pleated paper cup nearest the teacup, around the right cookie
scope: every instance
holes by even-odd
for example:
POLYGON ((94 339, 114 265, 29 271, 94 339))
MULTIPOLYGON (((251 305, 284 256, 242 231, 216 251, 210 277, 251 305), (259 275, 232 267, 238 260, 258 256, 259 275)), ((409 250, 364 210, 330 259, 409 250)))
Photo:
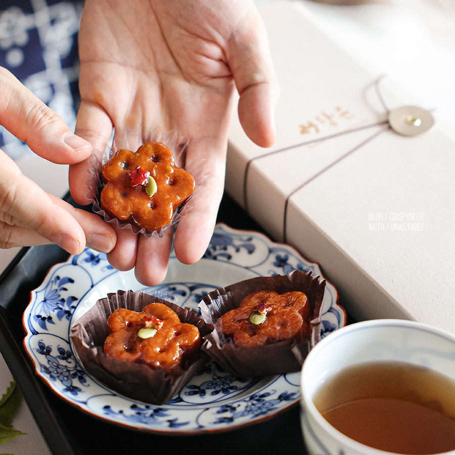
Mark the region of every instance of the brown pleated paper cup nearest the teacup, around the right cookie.
POLYGON ((238 377, 280 375, 300 371, 310 349, 321 339, 322 302, 326 281, 308 273, 294 270, 289 275, 257 277, 210 292, 199 304, 204 321, 214 330, 204 337, 201 349, 224 370, 238 377), (301 291, 308 297, 310 334, 255 347, 238 347, 226 339, 216 325, 219 317, 238 308, 242 300, 258 291, 283 294, 301 291))

